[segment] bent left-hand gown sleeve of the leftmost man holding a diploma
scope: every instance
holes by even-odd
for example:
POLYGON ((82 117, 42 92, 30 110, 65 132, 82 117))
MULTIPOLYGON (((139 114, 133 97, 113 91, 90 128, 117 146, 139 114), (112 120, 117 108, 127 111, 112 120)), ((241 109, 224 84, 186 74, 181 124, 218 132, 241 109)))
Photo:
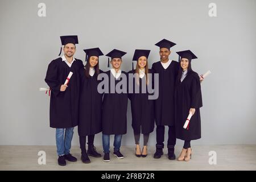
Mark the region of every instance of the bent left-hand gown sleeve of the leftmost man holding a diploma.
POLYGON ((48 65, 46 78, 44 79, 44 81, 46 81, 47 85, 49 85, 49 88, 52 90, 52 93, 55 94, 55 96, 59 94, 60 86, 61 86, 61 83, 57 78, 57 74, 58 74, 57 64, 55 61, 52 61, 48 65))

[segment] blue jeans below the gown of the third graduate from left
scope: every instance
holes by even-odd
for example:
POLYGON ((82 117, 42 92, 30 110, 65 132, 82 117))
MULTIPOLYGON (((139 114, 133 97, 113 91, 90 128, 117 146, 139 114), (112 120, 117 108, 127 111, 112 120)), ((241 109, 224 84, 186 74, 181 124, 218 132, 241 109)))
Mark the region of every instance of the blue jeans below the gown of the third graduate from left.
MULTIPOLYGON (((105 135, 102 134, 102 145, 103 145, 103 151, 104 154, 109 153, 109 140, 110 140, 110 135, 105 135)), ((121 147, 121 140, 122 140, 122 135, 115 135, 114 139, 114 152, 119 151, 121 147)))

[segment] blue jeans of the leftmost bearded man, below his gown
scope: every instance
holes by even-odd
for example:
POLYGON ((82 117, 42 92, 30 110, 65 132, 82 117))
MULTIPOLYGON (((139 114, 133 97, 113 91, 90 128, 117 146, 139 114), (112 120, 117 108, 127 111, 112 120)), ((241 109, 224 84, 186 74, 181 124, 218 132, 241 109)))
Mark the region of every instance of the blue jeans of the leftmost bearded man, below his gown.
POLYGON ((74 133, 73 130, 73 127, 68 127, 66 129, 56 129, 56 146, 57 154, 59 156, 69 154, 71 149, 71 141, 74 133))

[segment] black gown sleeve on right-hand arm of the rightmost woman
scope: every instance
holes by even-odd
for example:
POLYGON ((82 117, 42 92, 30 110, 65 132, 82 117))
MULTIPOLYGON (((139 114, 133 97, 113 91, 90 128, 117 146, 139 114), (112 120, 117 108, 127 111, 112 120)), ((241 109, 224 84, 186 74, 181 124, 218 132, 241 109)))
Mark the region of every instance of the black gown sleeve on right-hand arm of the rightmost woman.
POLYGON ((193 75, 191 85, 191 108, 200 108, 203 106, 200 78, 197 74, 193 75))

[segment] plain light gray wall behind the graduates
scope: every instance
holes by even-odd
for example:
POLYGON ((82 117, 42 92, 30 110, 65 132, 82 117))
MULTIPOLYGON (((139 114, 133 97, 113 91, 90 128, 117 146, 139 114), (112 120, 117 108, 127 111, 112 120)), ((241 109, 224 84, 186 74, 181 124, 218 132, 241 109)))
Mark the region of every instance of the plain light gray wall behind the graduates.
MULTIPOLYGON (((192 68, 212 71, 202 84, 202 138, 192 144, 256 144, 256 1, 0 2, 0 144, 55 145, 49 97, 39 87, 47 86, 44 77, 59 53, 61 35, 79 36, 75 57, 82 60, 84 48, 126 51, 124 71, 131 69, 136 48, 151 49, 151 67, 159 60, 154 44, 163 38, 177 43, 172 60, 176 51, 191 49, 199 57, 192 68), (46 17, 38 16, 40 2, 46 3, 46 17), (217 5, 216 18, 208 15, 211 2, 217 5)), ((106 66, 107 58, 101 57, 101 69, 107 71, 106 66)), ((128 108, 122 144, 133 145, 130 103, 128 108)), ((95 143, 101 144, 101 134, 95 143)), ((76 127, 73 145, 78 144, 76 127)), ((155 145, 155 131, 150 144, 155 145)))

